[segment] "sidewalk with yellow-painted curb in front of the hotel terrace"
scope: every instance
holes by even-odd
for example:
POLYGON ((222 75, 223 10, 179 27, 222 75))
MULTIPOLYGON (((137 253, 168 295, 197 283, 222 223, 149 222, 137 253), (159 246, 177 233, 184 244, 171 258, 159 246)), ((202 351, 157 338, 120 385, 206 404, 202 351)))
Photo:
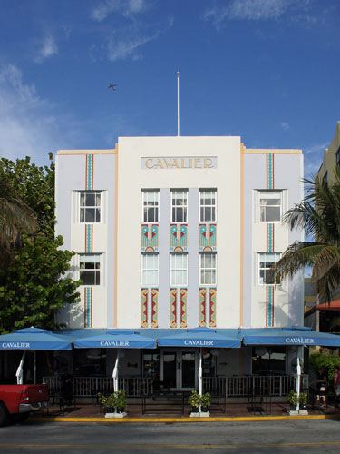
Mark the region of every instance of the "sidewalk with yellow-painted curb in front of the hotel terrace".
POLYGON ((128 406, 128 416, 123 419, 105 419, 99 405, 75 405, 60 410, 59 406, 50 406, 48 412, 37 413, 31 416, 34 421, 58 421, 58 422, 213 422, 213 421, 237 421, 237 420, 279 420, 279 419, 340 419, 340 411, 333 406, 323 411, 307 408, 308 415, 289 416, 287 410, 289 405, 285 403, 272 403, 271 409, 257 407, 254 412, 246 403, 231 403, 227 405, 226 411, 212 410, 209 418, 190 418, 189 406, 185 407, 184 413, 180 410, 148 410, 145 414, 141 412, 140 404, 128 406))

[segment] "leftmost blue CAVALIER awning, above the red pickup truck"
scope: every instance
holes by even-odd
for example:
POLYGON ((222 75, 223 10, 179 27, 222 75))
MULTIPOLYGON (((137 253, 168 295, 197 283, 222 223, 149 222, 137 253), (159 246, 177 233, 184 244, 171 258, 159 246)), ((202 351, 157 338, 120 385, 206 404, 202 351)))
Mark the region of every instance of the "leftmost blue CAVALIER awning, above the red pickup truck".
POLYGON ((24 328, 0 336, 0 350, 71 350, 72 342, 52 331, 24 328))

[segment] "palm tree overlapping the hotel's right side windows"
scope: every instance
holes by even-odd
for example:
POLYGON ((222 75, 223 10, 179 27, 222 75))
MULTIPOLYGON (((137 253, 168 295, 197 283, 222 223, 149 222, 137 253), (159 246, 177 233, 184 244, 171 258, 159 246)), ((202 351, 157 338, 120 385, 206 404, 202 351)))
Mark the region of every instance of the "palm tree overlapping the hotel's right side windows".
POLYGON ((281 280, 311 267, 316 293, 330 302, 340 284, 340 170, 335 170, 334 183, 325 183, 318 175, 304 183, 306 197, 284 214, 283 222, 291 229, 304 228, 315 241, 288 246, 272 269, 273 277, 281 280))

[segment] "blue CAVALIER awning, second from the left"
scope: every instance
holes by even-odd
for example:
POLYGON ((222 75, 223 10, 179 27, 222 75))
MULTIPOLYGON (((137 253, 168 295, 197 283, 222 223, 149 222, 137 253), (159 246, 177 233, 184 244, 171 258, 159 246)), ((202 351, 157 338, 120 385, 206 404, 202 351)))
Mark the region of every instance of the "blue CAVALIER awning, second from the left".
POLYGON ((111 330, 96 336, 74 339, 76 349, 155 349, 156 340, 136 331, 111 330))

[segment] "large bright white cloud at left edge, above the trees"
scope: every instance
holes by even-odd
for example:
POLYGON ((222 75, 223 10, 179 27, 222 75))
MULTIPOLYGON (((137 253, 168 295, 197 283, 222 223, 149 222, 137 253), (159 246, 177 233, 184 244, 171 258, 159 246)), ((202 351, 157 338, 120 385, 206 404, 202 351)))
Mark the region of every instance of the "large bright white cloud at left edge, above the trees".
POLYGON ((67 114, 59 119, 55 111, 56 106, 42 99, 33 84, 24 83, 17 66, 1 67, 0 156, 12 160, 31 156, 42 165, 49 152, 73 143, 80 135, 79 124, 67 114))

